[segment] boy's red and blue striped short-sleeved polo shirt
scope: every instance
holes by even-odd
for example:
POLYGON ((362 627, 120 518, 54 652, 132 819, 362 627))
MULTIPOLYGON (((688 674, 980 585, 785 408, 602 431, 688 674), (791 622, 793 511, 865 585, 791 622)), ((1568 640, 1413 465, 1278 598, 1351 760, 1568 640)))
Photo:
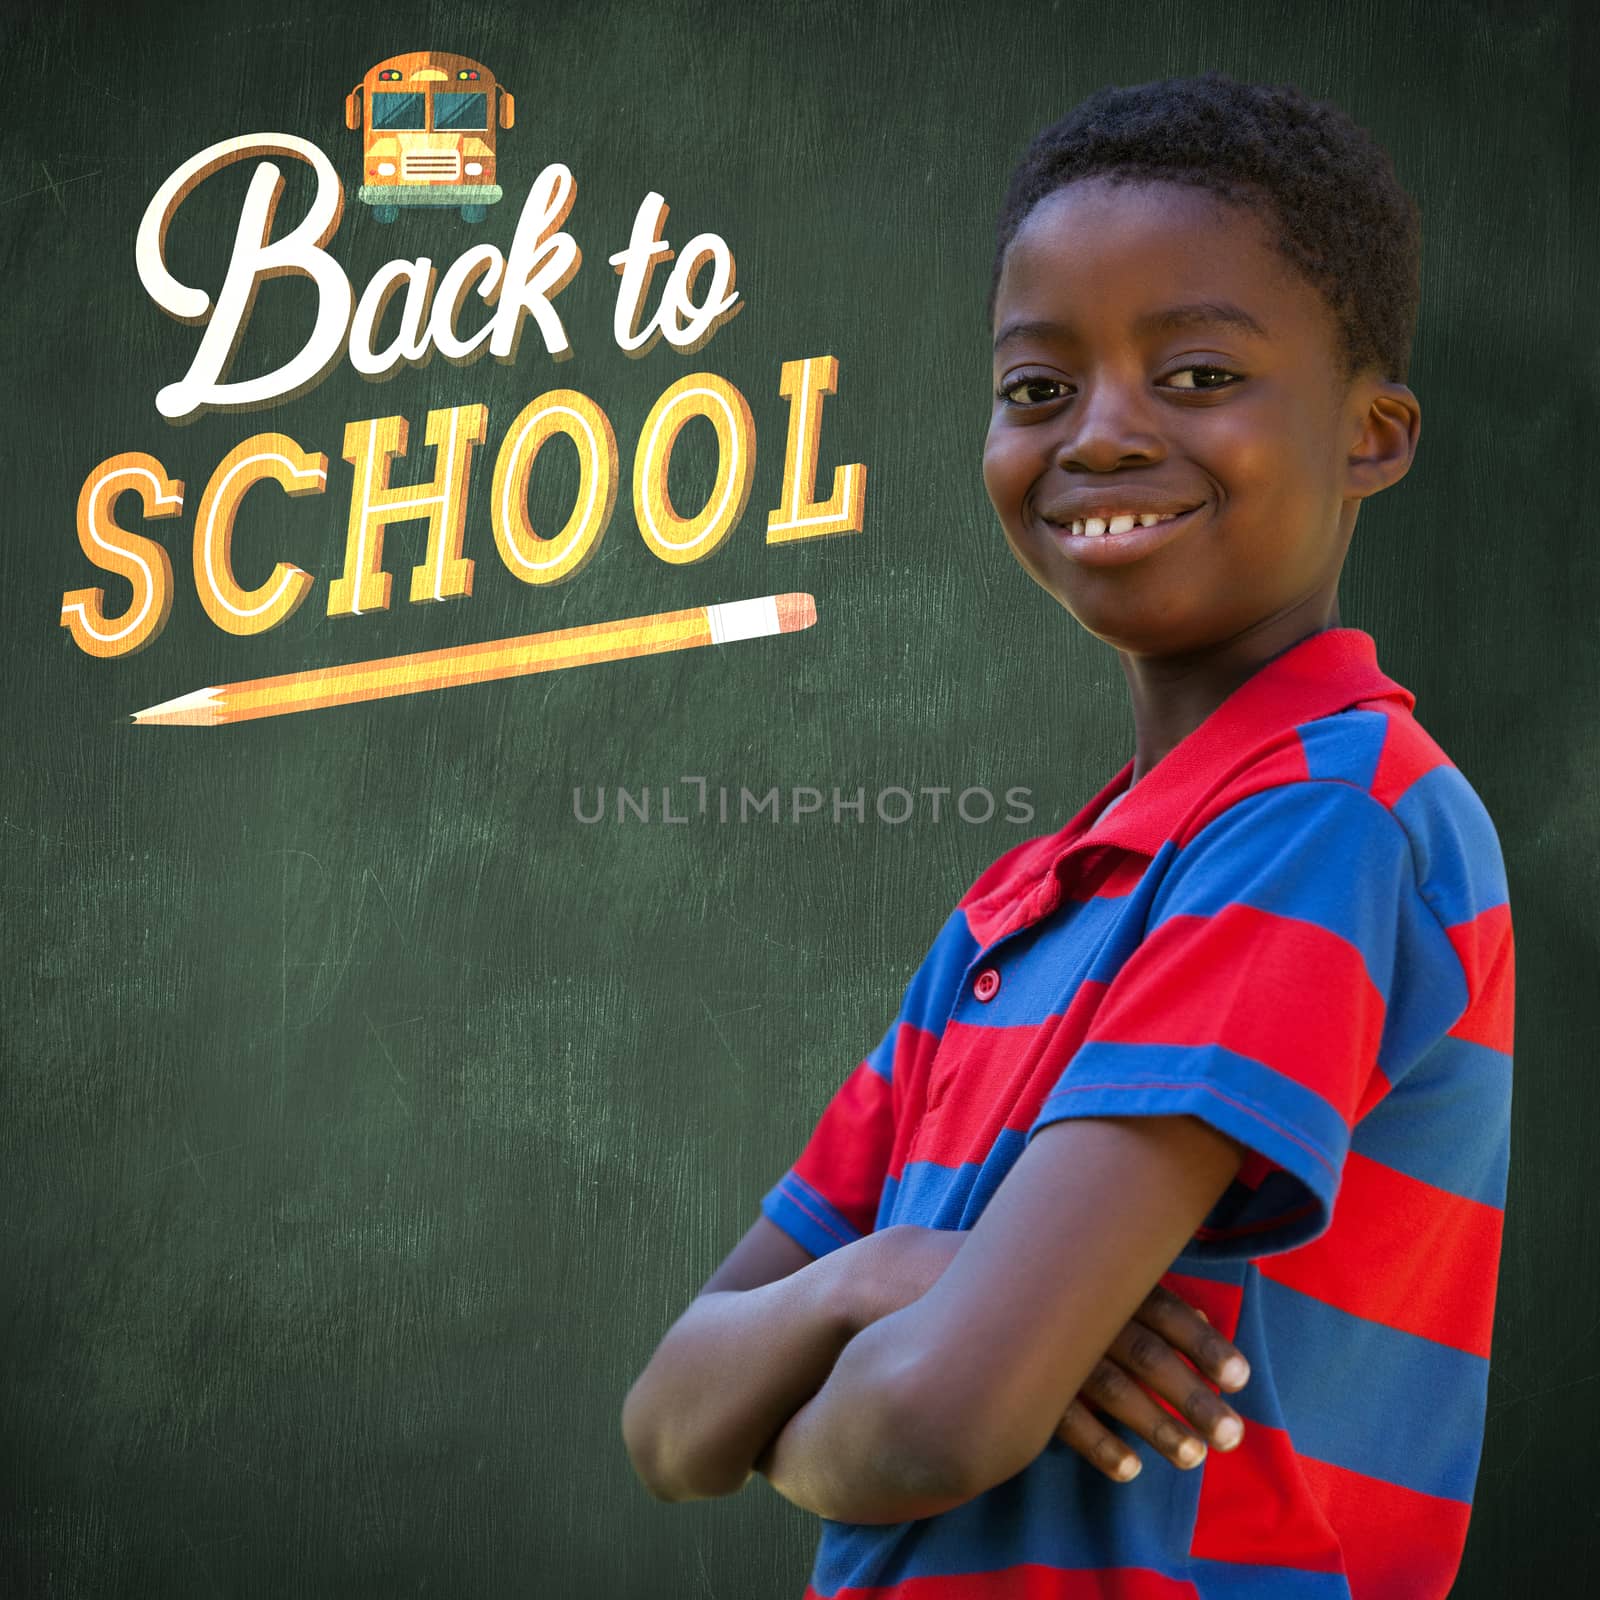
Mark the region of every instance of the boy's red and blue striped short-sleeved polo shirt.
MULTIPOLYGON (((1432 1600, 1483 1440, 1514 954, 1483 803, 1312 634, 962 898, 762 1210, 821 1256, 971 1227, 1066 1117, 1200 1117, 1245 1163, 1163 1283, 1250 1358, 1243 1443, 1110 1483, 1051 1440, 938 1517, 822 1522, 808 1597, 1432 1600), (1110 810, 1107 810, 1110 805, 1110 810)), ((1110 1203, 1107 1197, 1107 1203, 1110 1203)))

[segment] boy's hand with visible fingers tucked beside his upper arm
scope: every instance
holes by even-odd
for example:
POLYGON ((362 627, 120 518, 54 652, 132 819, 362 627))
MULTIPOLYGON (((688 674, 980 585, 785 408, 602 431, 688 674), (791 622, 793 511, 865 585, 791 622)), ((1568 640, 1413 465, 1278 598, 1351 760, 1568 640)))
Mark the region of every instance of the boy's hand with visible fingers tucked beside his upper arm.
POLYGON ((1197 1467, 1205 1461, 1206 1442, 1232 1450, 1245 1435, 1238 1413, 1211 1392, 1202 1374, 1222 1389, 1242 1389, 1250 1379, 1250 1363, 1205 1312, 1157 1286, 1090 1373, 1056 1437, 1115 1483, 1138 1477, 1139 1458, 1094 1416, 1085 1405, 1090 1400, 1152 1443, 1173 1466, 1197 1467), (1189 1366, 1182 1355, 1195 1365, 1189 1366), (1190 1426, 1162 1410, 1146 1390, 1170 1402, 1190 1426))

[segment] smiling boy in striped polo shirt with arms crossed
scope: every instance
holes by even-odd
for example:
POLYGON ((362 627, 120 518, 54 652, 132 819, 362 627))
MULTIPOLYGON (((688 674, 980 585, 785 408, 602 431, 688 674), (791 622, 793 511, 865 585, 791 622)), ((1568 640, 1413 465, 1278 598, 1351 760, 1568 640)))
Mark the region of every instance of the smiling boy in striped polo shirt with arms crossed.
POLYGON ((1338 614, 1416 450, 1416 285, 1387 158, 1293 90, 1106 90, 1013 176, 984 480, 1134 755, 963 896, 624 1408, 658 1494, 754 1469, 824 1517, 814 1595, 1450 1589, 1512 930, 1478 797, 1338 614), (1075 1397, 1186 1464, 1112 1379, 1181 1398, 1152 1325, 1227 1376, 1152 1288, 1251 1376, 1242 1440, 1190 1400, 1224 1448, 1134 1478, 1075 1397))

